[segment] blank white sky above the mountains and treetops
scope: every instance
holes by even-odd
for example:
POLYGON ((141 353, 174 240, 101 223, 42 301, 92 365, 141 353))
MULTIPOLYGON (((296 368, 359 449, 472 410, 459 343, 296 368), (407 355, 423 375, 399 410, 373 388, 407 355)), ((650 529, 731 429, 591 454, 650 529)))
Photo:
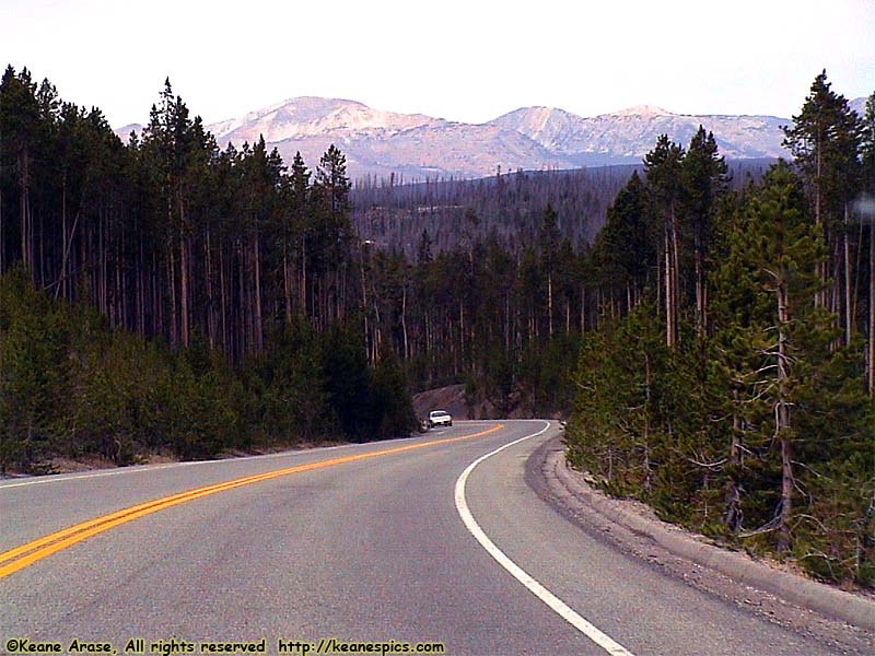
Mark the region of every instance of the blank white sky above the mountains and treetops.
POLYGON ((0 0, 0 63, 114 127, 145 122, 167 77, 207 124, 302 95, 467 122, 790 117, 822 69, 875 92, 875 0, 0 0))

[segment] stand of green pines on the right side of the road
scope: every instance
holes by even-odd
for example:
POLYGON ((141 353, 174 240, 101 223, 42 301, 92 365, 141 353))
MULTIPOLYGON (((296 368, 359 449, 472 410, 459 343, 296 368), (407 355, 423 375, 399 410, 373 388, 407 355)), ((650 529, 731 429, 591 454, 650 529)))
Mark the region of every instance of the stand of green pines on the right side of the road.
POLYGON ((727 189, 662 137, 593 247, 568 457, 608 491, 833 581, 875 582, 875 94, 817 75, 792 162, 727 189))

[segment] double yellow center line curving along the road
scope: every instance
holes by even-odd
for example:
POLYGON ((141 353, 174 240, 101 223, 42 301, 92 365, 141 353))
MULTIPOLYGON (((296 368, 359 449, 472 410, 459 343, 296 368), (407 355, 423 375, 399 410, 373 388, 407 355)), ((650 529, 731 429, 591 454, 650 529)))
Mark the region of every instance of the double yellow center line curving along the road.
POLYGON ((120 524, 125 524, 126 522, 131 522, 133 519, 137 519, 138 517, 142 517, 143 515, 158 513, 159 511, 163 511, 164 508, 170 508, 172 506, 179 505, 180 503, 194 501, 196 499, 200 499, 201 496, 209 496, 210 494, 215 494, 217 492, 224 492, 225 490, 233 490, 234 488, 240 488, 242 485, 249 485, 252 483, 267 481, 272 478, 288 476, 290 473, 298 473, 300 471, 323 469, 325 467, 342 465, 343 462, 352 462, 353 460, 364 460, 366 458, 376 458, 377 456, 387 456, 389 454, 397 454, 406 450, 412 450, 416 448, 423 448, 427 446, 433 446, 435 444, 448 444, 451 442, 458 442, 460 440, 470 440, 471 437, 479 437, 481 435, 494 433, 495 431, 500 431, 503 427, 504 427, 503 424, 495 424, 485 431, 479 431, 477 433, 471 433, 469 435, 462 435, 459 437, 430 440, 429 442, 407 444, 405 446, 396 446, 393 448, 385 448, 382 450, 370 452, 366 454, 355 454, 352 456, 329 458, 327 460, 317 460, 316 462, 307 462, 306 465, 298 465, 295 467, 288 467, 285 469, 276 469, 273 471, 267 471, 265 473, 256 473, 244 478, 233 479, 230 481, 225 481, 223 483, 214 483, 212 485, 205 485, 203 488, 196 488, 194 490, 188 490, 186 492, 171 494, 170 496, 153 499, 152 501, 147 501, 145 503, 132 505, 127 508, 116 511, 115 513, 101 515, 100 517, 95 517, 94 519, 89 519, 86 522, 75 524, 62 530, 49 534, 47 536, 43 536, 42 538, 37 538, 36 540, 32 540, 26 544, 22 544, 21 547, 15 547, 14 549, 10 549, 9 551, 0 553, 0 578, 2 578, 3 576, 9 576, 13 572, 18 572, 19 570, 26 567, 27 565, 35 563, 36 561, 42 560, 48 555, 51 555, 52 553, 60 551, 61 549, 67 549, 71 544, 81 542, 82 540, 90 538, 91 536, 95 536, 105 530, 109 530, 113 527, 116 527, 120 524))

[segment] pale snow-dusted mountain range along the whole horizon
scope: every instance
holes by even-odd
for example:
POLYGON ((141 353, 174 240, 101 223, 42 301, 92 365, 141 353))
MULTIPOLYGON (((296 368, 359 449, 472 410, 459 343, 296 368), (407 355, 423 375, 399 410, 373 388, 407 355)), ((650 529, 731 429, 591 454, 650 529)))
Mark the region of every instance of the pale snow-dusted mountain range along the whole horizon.
MULTIPOLYGON (((850 102, 863 112, 865 98, 850 102)), ((713 131, 728 159, 786 156, 775 116, 697 116, 639 105, 582 117, 551 107, 523 107, 480 125, 374 109, 362 103, 303 96, 207 126, 219 144, 254 143, 261 134, 289 163, 300 151, 315 167, 334 143, 347 156, 351 177, 400 174, 480 177, 502 171, 575 168, 638 163, 660 134, 687 145, 699 126, 713 131)), ((127 141, 131 130, 116 131, 127 141)))

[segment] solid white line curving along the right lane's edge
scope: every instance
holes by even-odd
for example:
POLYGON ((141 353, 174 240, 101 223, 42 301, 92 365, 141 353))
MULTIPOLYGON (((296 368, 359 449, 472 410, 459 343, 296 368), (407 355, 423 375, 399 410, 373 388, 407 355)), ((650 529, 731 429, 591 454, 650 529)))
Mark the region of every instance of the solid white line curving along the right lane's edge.
POLYGON ((462 476, 458 477, 456 480, 456 490, 455 490, 455 499, 456 499, 456 511, 458 511, 459 517, 465 523, 465 527, 468 531, 475 537, 475 539, 480 542, 480 546, 487 550, 489 555, 491 555, 495 561, 511 575, 516 578, 520 583, 528 588, 528 590, 534 594, 538 599, 544 601, 547 606, 550 607, 553 611, 556 611, 559 617, 563 620, 569 622, 572 626, 574 626, 578 631, 583 633, 586 637, 593 641, 596 645, 605 649, 611 656, 634 656, 631 652, 629 652, 626 647, 620 645, 619 643, 615 642, 609 635, 599 631, 596 626, 587 622, 583 619, 580 614, 574 612, 564 601, 562 601, 559 597, 553 595, 550 590, 545 588, 540 583, 535 581, 528 573, 526 573, 520 565, 513 562, 510 558, 508 558, 503 551, 501 551, 492 540, 483 532, 483 529, 480 528, 480 525, 471 515, 470 509, 468 508, 468 502, 465 500, 465 483, 468 480, 468 476, 470 476, 471 471, 483 460, 487 458, 494 456, 495 454, 503 452, 505 448, 513 446, 514 444, 518 444, 524 440, 528 440, 530 437, 537 437, 538 435, 542 435, 549 427, 550 422, 545 422, 545 425, 540 431, 537 433, 532 433, 530 435, 526 435, 525 437, 521 437, 520 440, 514 440, 513 442, 509 442, 504 446, 500 446, 495 450, 489 452, 485 456, 480 456, 474 462, 468 465, 465 471, 462 472, 462 476))

